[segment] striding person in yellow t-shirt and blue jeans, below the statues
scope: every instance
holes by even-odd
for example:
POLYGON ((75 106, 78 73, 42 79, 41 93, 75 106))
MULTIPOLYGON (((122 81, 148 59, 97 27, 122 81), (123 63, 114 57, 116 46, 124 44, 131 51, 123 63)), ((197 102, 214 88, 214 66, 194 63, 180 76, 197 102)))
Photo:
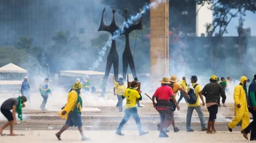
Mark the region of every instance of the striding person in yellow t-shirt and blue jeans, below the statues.
POLYGON ((139 92, 136 90, 137 87, 138 87, 138 83, 136 81, 132 81, 131 87, 127 88, 124 94, 122 95, 122 99, 126 98, 126 106, 124 110, 124 117, 115 132, 118 135, 124 135, 121 131, 124 127, 124 124, 130 119, 131 116, 134 118, 136 125, 138 126, 140 135, 149 133, 148 131, 143 131, 141 120, 138 115, 136 101, 137 99, 142 100, 142 97, 139 94, 139 92))

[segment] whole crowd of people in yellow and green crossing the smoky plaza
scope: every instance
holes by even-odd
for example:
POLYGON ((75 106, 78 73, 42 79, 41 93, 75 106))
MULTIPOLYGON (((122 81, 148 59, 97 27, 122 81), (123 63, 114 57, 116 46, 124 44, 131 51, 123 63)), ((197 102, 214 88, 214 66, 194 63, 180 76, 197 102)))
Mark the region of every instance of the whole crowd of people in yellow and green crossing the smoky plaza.
MULTIPOLYGON (((193 110, 195 110, 200 119, 201 131, 206 131, 207 134, 216 133, 216 129, 214 127, 215 119, 217 118, 220 102, 222 102, 223 107, 226 107, 225 88, 230 82, 230 77, 228 77, 227 80, 222 77, 221 82, 219 83, 219 78, 215 75, 212 75, 210 77, 209 83, 206 84, 203 88, 200 84, 197 83, 197 76, 192 76, 190 80, 191 83, 188 84, 186 82, 186 77, 183 77, 182 81, 178 83, 179 79, 175 75, 172 75, 170 78, 163 77, 162 80, 160 80, 161 86, 155 90, 152 96, 153 107, 157 110, 160 116, 160 123, 157 124, 159 130, 159 137, 168 137, 167 132, 169 131, 167 130, 167 128, 171 124, 173 126, 174 132, 179 131, 178 127, 175 126, 174 111, 176 109, 180 110, 179 103, 182 98, 185 99, 188 106, 186 120, 187 132, 194 131, 191 128, 191 118, 193 110), (181 95, 179 100, 177 101, 176 95, 178 91, 180 91, 181 95), (203 96, 205 97, 205 101, 203 96), (220 101, 220 97, 222 98, 222 101, 220 101), (201 109, 200 100, 202 101, 202 106, 206 106, 209 112, 207 126, 204 119, 204 114, 201 109)), ((248 90, 246 85, 247 81, 247 78, 245 76, 242 76, 240 79, 240 83, 235 86, 235 117, 228 124, 228 130, 232 132, 232 129, 240 124, 241 133, 243 134, 243 136, 248 139, 247 135, 251 132, 250 140, 256 140, 256 74, 254 75, 253 81, 250 83, 248 90), (253 121, 251 123, 249 123, 249 112, 253 116, 253 121)), ((44 82, 41 83, 39 86, 41 96, 43 97, 43 102, 40 106, 42 110, 45 110, 48 94, 51 94, 48 82, 49 79, 46 78, 44 82)), ((145 135, 149 133, 142 129, 140 117, 137 110, 137 105, 139 105, 139 101, 142 100, 141 91, 137 90, 139 85, 138 78, 135 78, 128 88, 124 85, 122 78, 120 78, 117 82, 113 78, 113 82, 115 83, 113 92, 118 99, 116 107, 119 109, 120 112, 123 111, 123 99, 126 99, 124 117, 115 133, 118 135, 124 135, 121 132, 122 128, 131 116, 135 119, 136 125, 138 126, 139 135, 145 135)), ((62 129, 55 134, 59 140, 61 140, 62 132, 72 126, 78 127, 78 130, 80 131, 82 136, 82 140, 89 140, 89 138, 85 137, 82 128, 83 125, 81 120, 81 110, 83 107, 83 103, 80 95, 81 89, 85 86, 87 86, 85 88, 88 88, 89 84, 90 83, 88 81, 85 81, 85 85, 83 85, 80 83, 80 79, 77 79, 71 87, 67 96, 67 103, 62 108, 62 111, 58 113, 63 119, 66 120, 66 123, 62 127, 62 129)), ((1 112, 7 118, 8 122, 6 122, 0 128, 0 135, 3 135, 3 130, 7 126, 11 127, 10 135, 17 135, 13 132, 14 125, 17 124, 16 112, 18 113, 18 117, 22 120, 22 107, 25 107, 24 103, 26 101, 30 102, 30 96, 28 92, 29 88, 30 87, 27 82, 27 77, 25 77, 21 87, 22 96, 19 96, 18 98, 10 98, 2 104, 1 112), (11 110, 13 111, 11 112, 11 110)))

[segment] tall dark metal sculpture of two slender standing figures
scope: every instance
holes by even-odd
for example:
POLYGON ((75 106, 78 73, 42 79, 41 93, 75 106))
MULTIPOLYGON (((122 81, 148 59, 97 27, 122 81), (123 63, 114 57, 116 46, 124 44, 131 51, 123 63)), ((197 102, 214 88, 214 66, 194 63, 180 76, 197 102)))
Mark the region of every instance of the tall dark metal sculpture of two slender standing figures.
MULTIPOLYGON (((100 28, 98 31, 107 31, 111 33, 113 36, 114 32, 119 29, 119 27, 115 23, 115 10, 113 9, 113 19, 110 25, 106 26, 104 21, 103 21, 103 15, 105 12, 105 8, 102 12, 102 18, 101 18, 101 24, 100 28)), ((127 21, 127 13, 128 10, 125 9, 125 20, 127 21)), ((127 74, 127 69, 128 69, 128 64, 130 65, 130 69, 132 71, 133 77, 137 77, 136 70, 135 70, 135 64, 132 56, 132 52, 130 49, 130 44, 129 44, 129 34, 133 30, 142 30, 142 18, 140 19, 138 24, 129 24, 129 27, 124 27, 124 32, 121 35, 125 35, 125 49, 123 52, 123 80, 126 80, 126 74, 127 74)), ((104 81, 103 81, 103 88, 102 88, 102 93, 101 96, 104 97, 105 91, 106 91, 106 84, 107 84, 107 78, 110 73, 111 66, 113 64, 114 68, 114 77, 115 80, 118 80, 118 67, 119 67, 119 62, 118 62, 118 53, 116 51, 116 46, 115 46, 115 39, 112 39, 112 44, 111 44, 111 49, 109 51, 109 54, 107 56, 107 65, 106 65, 106 71, 105 71, 105 76, 104 76, 104 81)))

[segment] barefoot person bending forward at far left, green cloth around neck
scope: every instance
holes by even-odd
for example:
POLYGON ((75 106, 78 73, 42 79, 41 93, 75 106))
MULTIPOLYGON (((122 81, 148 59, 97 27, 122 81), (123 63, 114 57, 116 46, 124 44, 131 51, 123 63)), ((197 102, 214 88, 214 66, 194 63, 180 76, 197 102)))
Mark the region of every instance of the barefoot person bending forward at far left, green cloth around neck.
POLYGON ((18 113, 18 118, 22 121, 22 107, 25 107, 25 102, 27 98, 25 96, 19 96, 18 98, 10 98, 3 102, 1 106, 2 114, 7 118, 8 122, 6 122, 0 129, 0 135, 3 135, 3 130, 10 126, 10 134, 9 135, 18 135, 15 134, 14 125, 17 125, 16 113, 18 113), (13 110, 11 112, 10 110, 13 110))

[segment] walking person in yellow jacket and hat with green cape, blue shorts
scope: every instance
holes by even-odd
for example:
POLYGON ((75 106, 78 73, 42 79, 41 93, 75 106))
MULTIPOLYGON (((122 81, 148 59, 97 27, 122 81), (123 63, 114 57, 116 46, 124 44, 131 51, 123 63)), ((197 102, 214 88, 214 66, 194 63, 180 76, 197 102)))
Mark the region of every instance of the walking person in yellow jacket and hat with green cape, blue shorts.
POLYGON ((67 103, 64 109, 58 113, 63 119, 66 119, 65 125, 59 132, 55 134, 58 140, 61 140, 61 134, 65 130, 67 130, 67 128, 73 126, 78 127, 78 130, 80 131, 80 134, 82 136, 82 140, 90 140, 89 138, 86 138, 84 136, 83 124, 81 119, 83 102, 80 95, 80 90, 82 87, 83 85, 79 81, 75 82, 75 84, 72 86, 72 89, 68 93, 67 103))

